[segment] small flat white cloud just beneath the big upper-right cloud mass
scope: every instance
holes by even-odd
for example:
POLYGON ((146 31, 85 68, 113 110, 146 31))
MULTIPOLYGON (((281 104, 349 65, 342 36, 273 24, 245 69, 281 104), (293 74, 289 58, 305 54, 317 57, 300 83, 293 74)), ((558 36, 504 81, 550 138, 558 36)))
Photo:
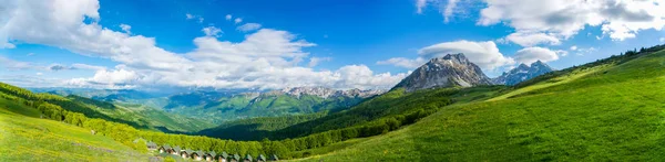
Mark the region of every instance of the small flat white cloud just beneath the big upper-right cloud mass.
POLYGON ((545 33, 512 33, 505 37, 508 41, 522 46, 535 46, 539 44, 559 45, 561 42, 553 35, 545 33))

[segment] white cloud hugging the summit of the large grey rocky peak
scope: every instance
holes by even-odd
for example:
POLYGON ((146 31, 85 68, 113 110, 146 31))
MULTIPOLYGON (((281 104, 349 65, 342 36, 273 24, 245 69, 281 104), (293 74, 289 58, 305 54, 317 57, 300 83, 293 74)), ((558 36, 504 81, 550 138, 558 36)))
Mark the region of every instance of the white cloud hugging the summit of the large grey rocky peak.
POLYGON ((463 53, 469 61, 473 62, 484 71, 492 71, 495 67, 514 64, 510 57, 503 56, 499 52, 497 44, 492 41, 488 42, 471 42, 457 41, 439 43, 423 47, 418 51, 420 57, 424 60, 433 57, 442 57, 447 54, 463 53))

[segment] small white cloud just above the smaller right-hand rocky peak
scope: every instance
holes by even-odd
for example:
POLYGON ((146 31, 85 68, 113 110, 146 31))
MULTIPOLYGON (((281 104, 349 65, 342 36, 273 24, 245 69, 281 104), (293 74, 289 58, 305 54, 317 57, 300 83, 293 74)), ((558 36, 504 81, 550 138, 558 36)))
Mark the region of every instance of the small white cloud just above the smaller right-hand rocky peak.
POLYGON ((518 51, 514 55, 519 63, 531 64, 536 61, 551 62, 559 60, 556 52, 544 47, 526 47, 518 51))

